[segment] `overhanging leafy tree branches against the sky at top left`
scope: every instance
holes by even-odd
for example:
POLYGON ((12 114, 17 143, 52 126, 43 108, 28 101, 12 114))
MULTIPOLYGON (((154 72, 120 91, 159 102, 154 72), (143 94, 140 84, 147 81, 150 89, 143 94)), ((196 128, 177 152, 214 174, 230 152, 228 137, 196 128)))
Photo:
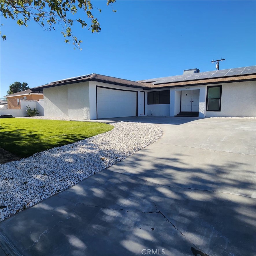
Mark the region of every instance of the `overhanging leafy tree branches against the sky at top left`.
MULTIPOLYGON (((107 5, 112 6, 115 1, 107 0, 107 5)), ((65 39, 65 42, 73 41, 74 49, 75 47, 81 49, 80 43, 82 42, 73 36, 71 27, 74 22, 79 23, 82 28, 88 27, 83 20, 85 16, 90 19, 88 30, 92 33, 101 31, 97 18, 92 15, 93 8, 101 12, 101 9, 93 6, 90 0, 0 0, 0 12, 4 18, 16 20, 19 26, 25 25, 26 27, 28 21, 34 20, 45 30, 55 30, 57 24, 57 27, 62 28, 63 36, 70 38, 65 39), (74 18, 79 9, 84 12, 84 16, 74 18)), ((116 10, 113 9, 113 12, 116 10)), ((6 40, 6 35, 1 35, 1 37, 6 40)))

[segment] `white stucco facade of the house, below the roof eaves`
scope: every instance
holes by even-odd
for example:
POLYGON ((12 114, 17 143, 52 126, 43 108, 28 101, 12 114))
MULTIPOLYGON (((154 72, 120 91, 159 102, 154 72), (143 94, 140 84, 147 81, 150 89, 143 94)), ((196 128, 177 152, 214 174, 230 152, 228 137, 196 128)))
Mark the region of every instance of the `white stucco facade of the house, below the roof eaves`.
MULTIPOLYGON (((129 116, 129 113, 132 113, 130 116, 176 116, 182 112, 182 95, 196 94, 196 105, 192 105, 191 111, 198 113, 201 118, 256 116, 256 81, 216 83, 214 86, 222 88, 220 111, 207 111, 207 88, 213 87, 212 84, 147 90, 146 88, 134 88, 99 81, 85 81, 44 88, 44 113, 46 117, 92 120, 104 117, 121 117, 122 114, 129 116), (163 90, 170 90, 169 104, 148 104, 149 92, 163 90), (120 99, 117 100, 115 97, 120 97, 120 99), (132 97, 131 102, 127 100, 129 97, 132 97), (127 109, 132 108, 131 112, 126 111, 126 106, 127 109), (118 109, 118 112, 117 108, 123 110, 118 109)), ((194 101, 190 99, 188 103, 194 101)))

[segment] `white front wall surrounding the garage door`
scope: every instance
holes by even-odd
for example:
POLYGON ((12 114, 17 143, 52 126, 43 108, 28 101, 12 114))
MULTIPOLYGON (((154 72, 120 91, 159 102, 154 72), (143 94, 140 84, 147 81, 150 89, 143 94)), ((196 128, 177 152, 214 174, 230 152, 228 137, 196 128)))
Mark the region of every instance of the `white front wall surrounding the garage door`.
MULTIPOLYGON (((97 119, 97 103, 96 103, 96 86, 102 86, 112 89, 121 89, 121 90, 128 90, 128 91, 137 91, 138 92, 138 116, 144 116, 140 114, 140 91, 144 91, 140 88, 133 88, 127 86, 119 86, 114 84, 108 84, 103 82, 97 81, 89 81, 89 95, 90 95, 90 119, 95 120, 97 119)), ((145 113, 146 113, 146 95, 145 95, 145 113)))

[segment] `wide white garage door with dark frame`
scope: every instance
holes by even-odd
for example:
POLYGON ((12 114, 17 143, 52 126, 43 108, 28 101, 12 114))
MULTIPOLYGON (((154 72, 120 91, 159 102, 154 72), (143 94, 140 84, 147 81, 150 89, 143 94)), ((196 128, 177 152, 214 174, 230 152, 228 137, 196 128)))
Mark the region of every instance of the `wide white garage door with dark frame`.
POLYGON ((137 92, 97 87, 97 118, 136 116, 137 92))

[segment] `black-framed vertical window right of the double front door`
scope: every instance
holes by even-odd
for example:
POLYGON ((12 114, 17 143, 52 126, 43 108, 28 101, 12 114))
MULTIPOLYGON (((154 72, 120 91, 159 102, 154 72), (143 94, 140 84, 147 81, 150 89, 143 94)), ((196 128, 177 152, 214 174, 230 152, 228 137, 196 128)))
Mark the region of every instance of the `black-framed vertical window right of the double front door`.
POLYGON ((222 86, 207 86, 206 111, 220 111, 222 86))

